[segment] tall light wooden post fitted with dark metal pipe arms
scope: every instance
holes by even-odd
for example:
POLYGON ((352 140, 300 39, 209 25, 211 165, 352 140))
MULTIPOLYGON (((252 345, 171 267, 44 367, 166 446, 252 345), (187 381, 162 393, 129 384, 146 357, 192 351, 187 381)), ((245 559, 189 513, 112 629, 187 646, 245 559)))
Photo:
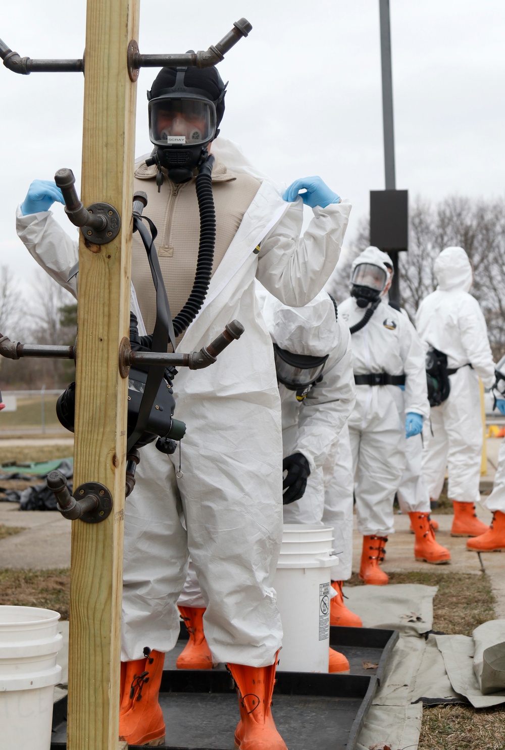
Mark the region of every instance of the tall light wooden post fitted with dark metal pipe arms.
POLYGON ((125 507, 126 396, 118 368, 128 335, 136 85, 128 42, 140 0, 88 0, 84 86, 84 205, 108 202, 122 219, 108 245, 80 235, 74 486, 113 494, 102 523, 72 523, 68 750, 117 750, 125 507))

